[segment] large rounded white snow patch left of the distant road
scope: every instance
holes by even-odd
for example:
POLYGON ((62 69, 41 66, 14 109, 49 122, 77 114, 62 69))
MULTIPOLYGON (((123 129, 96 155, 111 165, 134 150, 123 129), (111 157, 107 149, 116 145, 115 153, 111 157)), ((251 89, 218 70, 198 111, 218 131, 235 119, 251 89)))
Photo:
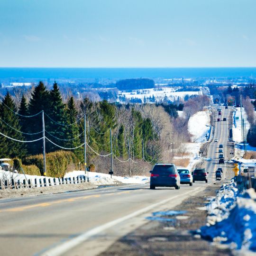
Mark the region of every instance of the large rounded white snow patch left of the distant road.
POLYGON ((192 135, 194 142, 205 142, 206 134, 210 130, 210 112, 199 111, 192 115, 188 121, 188 131, 192 135))

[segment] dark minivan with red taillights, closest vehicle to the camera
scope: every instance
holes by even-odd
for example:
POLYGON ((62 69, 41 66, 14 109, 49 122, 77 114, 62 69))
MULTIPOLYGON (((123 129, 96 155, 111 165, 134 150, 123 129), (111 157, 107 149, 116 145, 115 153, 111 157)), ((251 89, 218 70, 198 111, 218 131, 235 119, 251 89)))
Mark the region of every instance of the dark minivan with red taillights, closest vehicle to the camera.
POLYGON ((174 164, 155 164, 150 173, 150 189, 155 187, 180 189, 181 179, 174 164))

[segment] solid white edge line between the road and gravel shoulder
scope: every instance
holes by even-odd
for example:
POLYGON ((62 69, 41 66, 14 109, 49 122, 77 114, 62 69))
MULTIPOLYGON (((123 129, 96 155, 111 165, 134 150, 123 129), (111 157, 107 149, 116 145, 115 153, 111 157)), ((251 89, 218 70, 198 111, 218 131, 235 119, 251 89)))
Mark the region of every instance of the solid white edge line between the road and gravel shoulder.
POLYGON ((161 204, 165 204, 166 202, 168 201, 171 201, 172 199, 176 198, 176 197, 180 197, 180 196, 183 196, 185 194, 188 194, 188 193, 192 193, 194 191, 198 191, 200 192, 202 189, 204 188, 204 186, 202 187, 196 187, 195 189, 193 190, 189 190, 188 192, 185 192, 183 194, 179 194, 179 195, 175 195, 171 198, 168 198, 168 199, 165 199, 163 201, 160 201, 160 202, 157 202, 155 204, 151 204, 143 209, 140 209, 140 210, 137 210, 137 211, 134 211, 133 213, 130 213, 124 217, 121 217, 119 219, 115 219, 115 220, 112 220, 110 222, 107 222, 99 227, 96 227, 94 229, 91 229, 87 232, 84 232, 82 233, 81 235, 77 236, 76 238, 73 238, 67 242, 64 242, 63 244, 59 245, 59 246, 56 246, 54 247, 53 249, 50 249, 48 251, 46 251, 45 253, 42 254, 42 256, 59 256, 59 255, 62 255, 64 254, 65 252, 69 251, 70 249, 72 249, 73 247, 76 247, 78 246, 79 244, 81 244, 82 242, 86 241, 87 239, 91 238, 92 236, 95 236, 99 233, 101 233, 102 231, 104 231, 105 229, 109 229, 117 224, 119 224, 120 222, 123 222, 127 219, 130 219, 130 218, 133 218, 139 214, 142 214, 142 213, 145 213, 149 210, 152 210, 153 208, 155 208, 156 206, 159 206, 161 204))

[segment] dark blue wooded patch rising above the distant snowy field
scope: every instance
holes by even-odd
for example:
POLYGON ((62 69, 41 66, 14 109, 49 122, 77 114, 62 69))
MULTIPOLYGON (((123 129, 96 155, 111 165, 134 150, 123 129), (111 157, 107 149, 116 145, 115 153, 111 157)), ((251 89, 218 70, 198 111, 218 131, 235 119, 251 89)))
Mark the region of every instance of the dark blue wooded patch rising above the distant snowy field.
POLYGON ((116 87, 119 90, 136 90, 136 89, 149 89, 155 87, 155 82, 152 79, 139 78, 139 79, 124 79, 116 82, 116 87))

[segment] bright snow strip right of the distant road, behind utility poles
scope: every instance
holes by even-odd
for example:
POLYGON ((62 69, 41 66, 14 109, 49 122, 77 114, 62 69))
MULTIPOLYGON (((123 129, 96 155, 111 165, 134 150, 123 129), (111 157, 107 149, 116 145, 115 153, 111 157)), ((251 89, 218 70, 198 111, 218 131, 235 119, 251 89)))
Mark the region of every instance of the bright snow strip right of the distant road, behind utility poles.
MULTIPOLYGON (((233 141, 235 141, 236 143, 240 143, 242 142, 242 134, 241 134, 241 110, 240 108, 236 108, 237 111, 234 111, 234 123, 233 123, 233 128, 232 128, 232 132, 233 132, 233 141), (239 119, 236 120, 236 117, 238 117, 239 119)), ((246 124, 246 131, 248 133, 248 130, 250 128, 250 124, 247 120, 247 114, 244 108, 242 108, 242 117, 245 120, 245 124, 246 124)))

